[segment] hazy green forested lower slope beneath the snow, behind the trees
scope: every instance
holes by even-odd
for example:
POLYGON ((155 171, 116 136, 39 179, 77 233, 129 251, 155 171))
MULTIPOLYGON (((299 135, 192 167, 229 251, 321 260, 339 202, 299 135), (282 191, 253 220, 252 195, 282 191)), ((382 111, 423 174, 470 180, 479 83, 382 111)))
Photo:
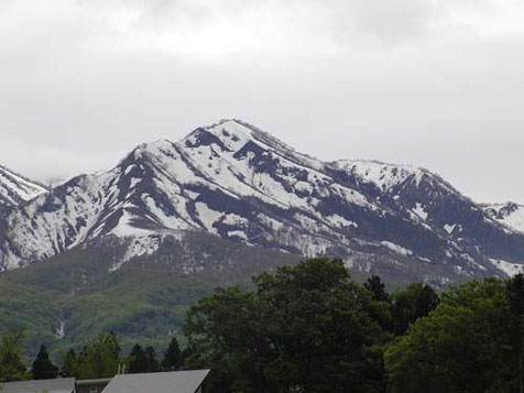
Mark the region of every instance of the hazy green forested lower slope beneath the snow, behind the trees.
POLYGON ((181 337, 192 303, 217 286, 247 287, 254 273, 298 261, 296 255, 201 233, 188 233, 185 242, 167 237, 155 255, 133 259, 111 273, 129 244, 110 237, 45 263, 2 272, 0 326, 25 329, 25 359, 34 359, 44 342, 51 359, 62 361, 69 348, 79 353, 99 331, 118 334, 125 353, 134 342, 163 351, 173 335, 181 337), (204 271, 184 273, 187 261, 205 259, 204 271), (57 319, 65 323, 63 338, 56 335, 57 319))

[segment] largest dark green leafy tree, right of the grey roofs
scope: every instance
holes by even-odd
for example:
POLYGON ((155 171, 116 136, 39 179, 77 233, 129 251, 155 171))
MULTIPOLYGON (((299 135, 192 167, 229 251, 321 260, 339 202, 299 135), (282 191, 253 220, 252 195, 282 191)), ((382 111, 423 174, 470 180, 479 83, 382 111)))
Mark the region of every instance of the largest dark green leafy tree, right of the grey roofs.
POLYGON ((219 288, 193 306, 189 365, 215 370, 210 391, 382 392, 387 335, 372 299, 339 260, 313 259, 219 288))

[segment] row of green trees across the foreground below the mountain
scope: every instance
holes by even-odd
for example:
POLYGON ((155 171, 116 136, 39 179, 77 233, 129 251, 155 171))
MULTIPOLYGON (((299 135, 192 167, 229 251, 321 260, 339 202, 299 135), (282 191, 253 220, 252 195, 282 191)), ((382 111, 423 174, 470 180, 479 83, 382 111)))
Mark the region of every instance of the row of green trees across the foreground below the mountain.
MULTIPOLYGON (((342 261, 310 259, 254 276, 249 291, 217 288, 189 308, 184 335, 187 347, 173 340, 163 361, 141 346, 122 358, 118 337, 100 335, 59 372, 209 368, 209 393, 523 392, 524 276, 387 293, 378 276, 360 284, 342 261)), ((1 378, 26 373, 13 361, 20 341, 1 336, 1 378)), ((52 369, 45 347, 35 369, 52 369)))

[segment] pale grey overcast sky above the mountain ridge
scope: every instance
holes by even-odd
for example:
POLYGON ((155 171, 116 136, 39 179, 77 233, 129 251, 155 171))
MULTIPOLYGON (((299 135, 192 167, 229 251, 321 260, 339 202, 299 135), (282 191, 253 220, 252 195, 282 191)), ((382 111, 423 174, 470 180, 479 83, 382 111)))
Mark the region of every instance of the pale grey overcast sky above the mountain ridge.
POLYGON ((221 118, 524 203, 524 2, 0 0, 0 164, 110 168, 221 118))

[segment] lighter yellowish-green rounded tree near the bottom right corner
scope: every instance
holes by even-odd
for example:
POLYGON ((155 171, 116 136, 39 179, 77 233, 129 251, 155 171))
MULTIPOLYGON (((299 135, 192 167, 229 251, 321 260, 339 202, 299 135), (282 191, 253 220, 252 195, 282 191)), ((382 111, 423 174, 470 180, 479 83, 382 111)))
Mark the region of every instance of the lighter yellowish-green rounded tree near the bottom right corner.
POLYGON ((436 310, 386 350, 390 392, 515 392, 505 286, 487 280, 444 294, 436 310))

